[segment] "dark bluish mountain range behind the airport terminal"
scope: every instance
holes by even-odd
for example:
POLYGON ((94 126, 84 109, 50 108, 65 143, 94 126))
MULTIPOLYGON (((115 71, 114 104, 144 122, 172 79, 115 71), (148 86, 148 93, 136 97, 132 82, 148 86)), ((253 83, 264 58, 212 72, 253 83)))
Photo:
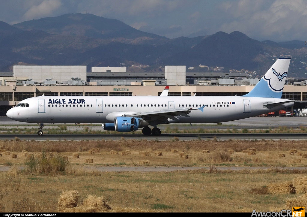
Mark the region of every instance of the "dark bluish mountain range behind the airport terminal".
MULTIPOLYGON (((14 25, 0 21, 0 71, 16 64, 87 65, 128 68, 148 65, 207 65, 263 75, 279 57, 292 57, 289 71, 305 77, 304 41, 257 41, 234 31, 199 37, 167 38, 93 14, 64 14, 14 25)), ((197 67, 196 67, 197 68, 197 67)))

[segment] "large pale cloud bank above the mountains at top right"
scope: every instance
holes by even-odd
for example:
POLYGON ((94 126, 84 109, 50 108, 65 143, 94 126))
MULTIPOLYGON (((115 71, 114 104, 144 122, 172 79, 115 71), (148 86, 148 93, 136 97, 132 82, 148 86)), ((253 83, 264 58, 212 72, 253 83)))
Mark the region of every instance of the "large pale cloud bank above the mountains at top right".
POLYGON ((275 0, 269 5, 257 2, 240 0, 222 4, 227 16, 233 18, 218 28, 228 33, 238 30, 258 40, 305 40, 302 37, 307 34, 307 1, 275 0))

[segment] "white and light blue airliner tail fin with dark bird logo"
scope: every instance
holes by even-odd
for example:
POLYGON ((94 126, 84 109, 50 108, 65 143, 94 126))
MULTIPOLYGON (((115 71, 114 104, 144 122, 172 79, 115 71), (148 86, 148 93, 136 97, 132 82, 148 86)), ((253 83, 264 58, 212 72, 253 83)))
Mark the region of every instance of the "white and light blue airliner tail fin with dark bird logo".
POLYGON ((282 98, 291 58, 279 58, 251 92, 243 97, 282 98))

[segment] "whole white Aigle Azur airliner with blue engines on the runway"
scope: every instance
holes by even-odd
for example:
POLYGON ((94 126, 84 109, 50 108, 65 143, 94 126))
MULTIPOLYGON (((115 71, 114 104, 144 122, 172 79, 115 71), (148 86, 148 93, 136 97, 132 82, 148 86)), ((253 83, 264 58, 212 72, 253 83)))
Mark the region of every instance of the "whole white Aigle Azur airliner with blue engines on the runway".
POLYGON ((101 123, 104 130, 160 135, 159 124, 220 123, 293 106, 281 99, 289 64, 290 58, 279 58, 244 96, 41 96, 20 101, 6 115, 38 123, 38 135, 44 123, 101 123))

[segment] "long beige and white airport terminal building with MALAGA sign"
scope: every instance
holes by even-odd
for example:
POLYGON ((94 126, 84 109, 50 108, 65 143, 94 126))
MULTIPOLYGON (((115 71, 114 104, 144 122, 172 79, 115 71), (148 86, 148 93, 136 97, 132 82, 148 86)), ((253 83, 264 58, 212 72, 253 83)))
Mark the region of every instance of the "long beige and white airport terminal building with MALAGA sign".
MULTIPOLYGON (((0 73, 0 115, 29 97, 42 96, 158 96, 169 85, 169 96, 242 96, 259 79, 245 73, 186 72, 185 66, 165 66, 158 73, 127 73, 126 67, 15 65, 0 73)), ((306 81, 287 78, 282 98, 307 106, 306 81)), ((289 108, 293 110, 293 108, 289 108)))

